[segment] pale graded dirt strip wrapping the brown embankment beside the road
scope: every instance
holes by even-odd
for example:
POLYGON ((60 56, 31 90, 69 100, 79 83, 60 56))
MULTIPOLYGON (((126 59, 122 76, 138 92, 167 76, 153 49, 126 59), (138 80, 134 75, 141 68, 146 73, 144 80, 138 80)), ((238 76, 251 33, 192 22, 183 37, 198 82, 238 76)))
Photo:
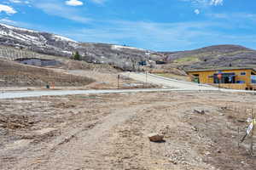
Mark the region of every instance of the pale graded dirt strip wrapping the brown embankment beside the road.
MULTIPOLYGON (((27 90, 89 90, 89 89, 127 89, 127 88, 162 88, 160 85, 138 82, 119 73, 102 73, 94 71, 65 71, 59 70, 60 73, 70 75, 71 77, 85 77, 94 80, 94 82, 75 84, 69 86, 54 86, 49 83, 49 89, 46 86, 10 86, 1 87, 0 92, 6 91, 27 91, 27 90), (119 80, 118 80, 119 77, 119 80)), ((73 82, 72 80, 70 82, 73 82)), ((47 83, 45 83, 46 85, 47 83)))

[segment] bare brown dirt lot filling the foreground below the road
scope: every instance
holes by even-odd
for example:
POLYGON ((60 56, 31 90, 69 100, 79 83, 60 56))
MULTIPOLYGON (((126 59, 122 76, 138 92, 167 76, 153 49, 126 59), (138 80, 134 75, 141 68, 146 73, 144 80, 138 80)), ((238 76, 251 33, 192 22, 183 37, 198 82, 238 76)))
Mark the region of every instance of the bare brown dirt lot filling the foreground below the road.
POLYGON ((253 170, 250 140, 237 144, 255 102, 219 92, 2 99, 0 169, 253 170))

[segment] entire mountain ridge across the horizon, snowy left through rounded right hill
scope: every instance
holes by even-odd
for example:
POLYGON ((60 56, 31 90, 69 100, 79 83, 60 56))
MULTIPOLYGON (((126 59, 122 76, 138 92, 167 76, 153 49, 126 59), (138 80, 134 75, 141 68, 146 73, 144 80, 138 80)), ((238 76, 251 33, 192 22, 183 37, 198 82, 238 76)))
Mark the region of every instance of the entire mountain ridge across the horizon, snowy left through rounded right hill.
POLYGON ((241 45, 223 44, 186 51, 154 52, 117 44, 77 42, 56 34, 1 23, 0 45, 67 58, 78 51, 86 62, 110 64, 123 70, 134 70, 137 63, 143 60, 165 60, 167 65, 181 69, 256 67, 256 50, 241 45))

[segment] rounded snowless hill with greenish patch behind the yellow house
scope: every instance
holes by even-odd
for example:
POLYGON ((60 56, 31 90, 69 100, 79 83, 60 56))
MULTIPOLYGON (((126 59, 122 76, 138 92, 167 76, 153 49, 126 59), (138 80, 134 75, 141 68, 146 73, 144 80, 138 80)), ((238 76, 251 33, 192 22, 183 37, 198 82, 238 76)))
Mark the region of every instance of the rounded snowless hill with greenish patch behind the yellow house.
POLYGON ((238 45, 217 45, 190 51, 160 53, 166 61, 185 69, 256 67, 256 51, 238 45))

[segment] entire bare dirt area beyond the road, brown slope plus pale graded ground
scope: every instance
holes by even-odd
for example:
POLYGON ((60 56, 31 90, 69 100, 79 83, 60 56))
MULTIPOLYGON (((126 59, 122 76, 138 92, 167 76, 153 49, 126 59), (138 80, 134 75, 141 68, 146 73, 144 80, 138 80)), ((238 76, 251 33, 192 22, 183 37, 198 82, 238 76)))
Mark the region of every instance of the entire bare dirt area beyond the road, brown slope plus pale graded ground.
POLYGON ((46 68, 0 59, 0 91, 45 90, 46 85, 57 90, 159 87, 122 76, 118 81, 120 72, 109 65, 67 62, 60 67, 46 68))

